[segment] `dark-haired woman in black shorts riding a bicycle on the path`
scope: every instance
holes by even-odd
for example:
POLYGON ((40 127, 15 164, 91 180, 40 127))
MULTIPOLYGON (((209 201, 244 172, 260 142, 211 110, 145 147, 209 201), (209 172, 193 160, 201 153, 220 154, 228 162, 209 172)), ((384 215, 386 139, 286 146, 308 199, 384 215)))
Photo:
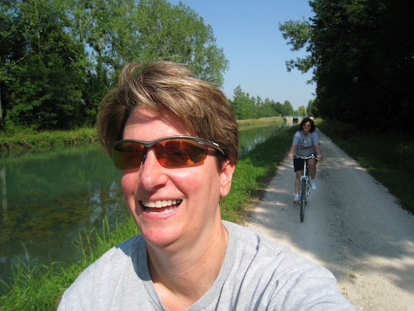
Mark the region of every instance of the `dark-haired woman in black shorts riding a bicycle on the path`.
MULTIPOLYGON (((319 135, 315 132, 315 122, 310 117, 305 117, 299 124, 299 131, 293 136, 292 147, 288 154, 289 158, 294 156, 311 156, 315 154, 318 159, 322 159, 321 148, 319 146, 319 135)), ((312 190, 316 190, 316 160, 308 160, 309 175, 311 176, 312 190)), ((293 158, 293 168, 296 172, 295 178, 295 198, 293 202, 299 204, 299 189, 300 189, 300 176, 304 173, 304 160, 293 158)))

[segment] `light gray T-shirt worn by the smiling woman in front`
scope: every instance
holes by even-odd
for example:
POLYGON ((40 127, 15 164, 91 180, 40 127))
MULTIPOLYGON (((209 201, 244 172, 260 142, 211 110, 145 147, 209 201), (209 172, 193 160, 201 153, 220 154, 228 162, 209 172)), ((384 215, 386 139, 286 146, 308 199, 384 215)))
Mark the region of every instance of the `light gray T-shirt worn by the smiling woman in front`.
MULTIPOLYGON (((188 310, 355 310, 328 270, 259 232, 224 225, 224 263, 188 310)), ((103 254, 66 290, 58 310, 166 310, 150 279, 144 238, 134 236, 103 254)))

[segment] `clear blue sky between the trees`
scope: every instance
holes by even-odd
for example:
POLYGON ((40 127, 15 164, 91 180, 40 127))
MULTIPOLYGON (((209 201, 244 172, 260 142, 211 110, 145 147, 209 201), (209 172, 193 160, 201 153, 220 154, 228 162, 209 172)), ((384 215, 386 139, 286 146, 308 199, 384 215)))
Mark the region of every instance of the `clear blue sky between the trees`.
MULTIPOLYGON (((169 0, 172 4, 179 0, 169 0)), ((303 57, 293 52, 279 31, 279 23, 306 20, 313 15, 308 0, 181 0, 210 24, 223 48, 230 68, 224 75, 223 91, 233 99, 241 86, 250 96, 268 97, 275 102, 288 100, 293 109, 308 106, 315 98, 315 84, 306 84, 311 72, 290 73, 285 62, 303 57)))

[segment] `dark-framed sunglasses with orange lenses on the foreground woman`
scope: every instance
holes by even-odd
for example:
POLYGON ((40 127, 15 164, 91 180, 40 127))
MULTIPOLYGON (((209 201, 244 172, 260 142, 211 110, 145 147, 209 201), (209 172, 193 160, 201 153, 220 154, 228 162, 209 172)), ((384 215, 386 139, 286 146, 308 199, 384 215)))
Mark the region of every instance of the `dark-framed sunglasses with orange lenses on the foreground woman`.
POLYGON ((112 161, 118 169, 137 169, 145 161, 148 148, 152 148, 163 167, 190 167, 206 160, 208 147, 225 155, 216 142, 193 136, 169 136, 150 142, 117 140, 112 146, 112 161))

